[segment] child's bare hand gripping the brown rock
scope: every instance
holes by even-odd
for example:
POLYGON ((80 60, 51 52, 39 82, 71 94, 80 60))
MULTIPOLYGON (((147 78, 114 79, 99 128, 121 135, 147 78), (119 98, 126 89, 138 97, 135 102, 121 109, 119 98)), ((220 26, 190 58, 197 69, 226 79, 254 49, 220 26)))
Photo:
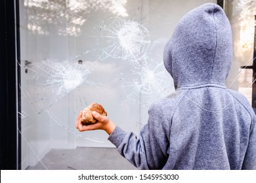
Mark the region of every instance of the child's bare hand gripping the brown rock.
POLYGON ((81 111, 79 115, 77 116, 75 127, 79 129, 79 131, 89 131, 89 130, 95 130, 95 129, 102 129, 110 135, 114 129, 116 128, 116 125, 108 118, 108 116, 102 116, 98 114, 98 112, 93 111, 93 117, 98 120, 96 124, 91 125, 83 125, 81 123, 81 117, 83 112, 81 111))

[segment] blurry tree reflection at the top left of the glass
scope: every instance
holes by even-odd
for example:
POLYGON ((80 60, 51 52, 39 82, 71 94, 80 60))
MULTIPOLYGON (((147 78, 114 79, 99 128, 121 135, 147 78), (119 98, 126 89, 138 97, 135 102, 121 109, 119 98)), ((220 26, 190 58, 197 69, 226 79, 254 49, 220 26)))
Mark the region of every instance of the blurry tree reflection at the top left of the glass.
POLYGON ((95 11, 102 10, 116 16, 128 16, 127 0, 24 0, 28 12, 28 30, 49 35, 49 25, 55 25, 59 35, 79 35, 81 26, 95 11))

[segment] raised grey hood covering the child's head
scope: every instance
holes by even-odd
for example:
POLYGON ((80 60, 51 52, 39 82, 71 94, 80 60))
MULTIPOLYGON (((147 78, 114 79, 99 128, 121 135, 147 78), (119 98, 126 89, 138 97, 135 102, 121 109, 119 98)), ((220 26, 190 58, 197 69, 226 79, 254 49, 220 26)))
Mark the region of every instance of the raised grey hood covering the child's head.
POLYGON ((163 63, 175 88, 226 86, 232 60, 232 33, 219 5, 206 3, 185 14, 165 44, 163 63))

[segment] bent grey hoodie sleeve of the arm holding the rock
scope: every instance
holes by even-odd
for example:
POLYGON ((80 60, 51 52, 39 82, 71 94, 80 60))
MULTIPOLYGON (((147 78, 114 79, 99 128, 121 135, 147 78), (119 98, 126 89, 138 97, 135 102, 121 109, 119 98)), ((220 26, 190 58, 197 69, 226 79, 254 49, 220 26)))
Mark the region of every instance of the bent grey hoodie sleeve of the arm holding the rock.
POLYGON ((116 127, 108 140, 138 169, 162 169, 169 156, 169 118, 158 105, 152 105, 148 114, 139 138, 116 127))

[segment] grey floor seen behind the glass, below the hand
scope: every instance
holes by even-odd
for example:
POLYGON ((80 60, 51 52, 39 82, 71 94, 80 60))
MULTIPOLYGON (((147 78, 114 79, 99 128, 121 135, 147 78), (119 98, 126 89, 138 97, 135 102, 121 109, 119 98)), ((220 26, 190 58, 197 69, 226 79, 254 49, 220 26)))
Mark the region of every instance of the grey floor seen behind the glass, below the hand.
POLYGON ((29 170, 132 170, 137 169, 116 148, 76 148, 51 150, 41 162, 29 170))

